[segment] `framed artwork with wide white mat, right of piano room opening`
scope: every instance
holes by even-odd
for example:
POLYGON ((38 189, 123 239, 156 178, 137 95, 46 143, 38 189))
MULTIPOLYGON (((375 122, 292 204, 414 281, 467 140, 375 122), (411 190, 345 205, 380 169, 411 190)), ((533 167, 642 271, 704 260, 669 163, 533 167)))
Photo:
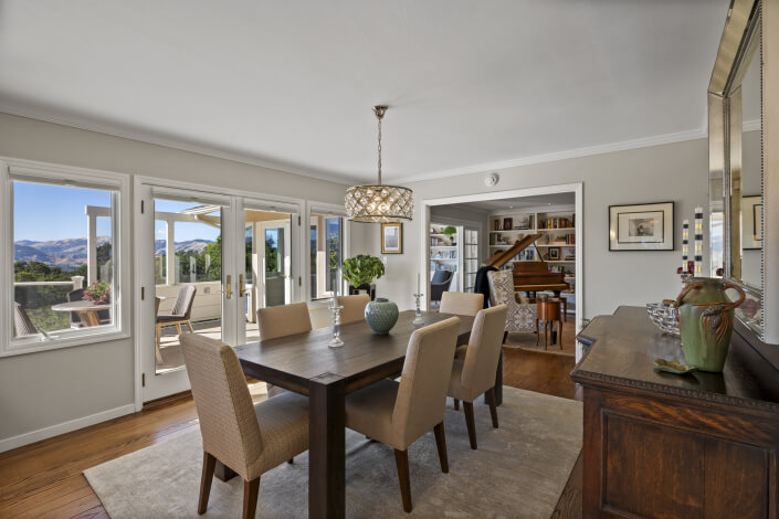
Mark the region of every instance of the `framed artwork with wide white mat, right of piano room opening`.
POLYGON ((609 206, 609 251, 673 250, 673 202, 609 206))

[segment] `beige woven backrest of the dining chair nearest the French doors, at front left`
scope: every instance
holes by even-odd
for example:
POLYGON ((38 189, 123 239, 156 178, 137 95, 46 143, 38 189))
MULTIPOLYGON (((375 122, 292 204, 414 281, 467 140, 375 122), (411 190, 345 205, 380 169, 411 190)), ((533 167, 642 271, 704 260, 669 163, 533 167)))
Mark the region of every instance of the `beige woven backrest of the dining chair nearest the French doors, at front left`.
POLYGON ((200 419, 203 451, 250 479, 263 451, 260 425, 235 351, 197 333, 179 338, 192 399, 200 419))

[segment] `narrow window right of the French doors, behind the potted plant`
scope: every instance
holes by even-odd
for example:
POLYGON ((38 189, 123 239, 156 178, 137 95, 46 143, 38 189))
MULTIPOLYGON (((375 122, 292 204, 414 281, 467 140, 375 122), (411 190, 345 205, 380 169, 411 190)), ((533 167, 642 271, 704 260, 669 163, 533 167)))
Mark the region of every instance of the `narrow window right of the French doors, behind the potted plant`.
POLYGON ((344 262, 344 218, 310 215, 310 297, 330 297, 344 262))

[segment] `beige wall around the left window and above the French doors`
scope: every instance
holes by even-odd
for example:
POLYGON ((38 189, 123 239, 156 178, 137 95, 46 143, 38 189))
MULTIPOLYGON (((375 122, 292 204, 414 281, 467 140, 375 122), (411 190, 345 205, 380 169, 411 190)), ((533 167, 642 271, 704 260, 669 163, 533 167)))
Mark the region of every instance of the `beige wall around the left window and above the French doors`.
MULTIPOLYGON (((334 182, 1 113, 0 156, 344 201, 345 186, 334 182)), ((69 421, 126 413, 134 401, 133 348, 130 338, 0 359, 0 451, 18 435, 45 436, 69 421)))

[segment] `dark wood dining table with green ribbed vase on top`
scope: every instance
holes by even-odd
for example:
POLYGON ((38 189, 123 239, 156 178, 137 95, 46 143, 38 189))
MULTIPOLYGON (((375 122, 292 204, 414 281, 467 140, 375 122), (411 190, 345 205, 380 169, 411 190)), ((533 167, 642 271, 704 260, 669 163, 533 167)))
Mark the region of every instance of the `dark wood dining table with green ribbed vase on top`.
MULTIPOLYGON (((422 317, 424 325, 414 326, 414 313, 401 311, 394 328, 383 336, 362 320, 341 325, 340 348, 327 346, 331 327, 235 348, 246 375, 308 396, 308 517, 346 515, 346 395, 399 375, 409 338, 422 326, 459 317, 457 343, 467 343, 473 317, 440 313, 422 317)), ((223 466, 217 470, 222 479, 231 473, 223 466)))

